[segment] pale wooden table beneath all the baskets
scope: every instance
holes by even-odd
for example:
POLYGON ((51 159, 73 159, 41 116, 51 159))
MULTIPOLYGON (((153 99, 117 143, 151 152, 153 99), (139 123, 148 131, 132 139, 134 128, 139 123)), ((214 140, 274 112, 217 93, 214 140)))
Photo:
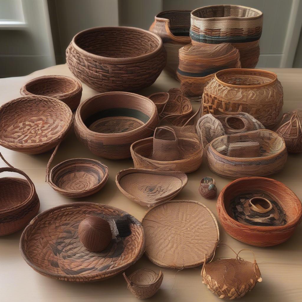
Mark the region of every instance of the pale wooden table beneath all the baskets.
MULTIPOLYGON (((302 108, 302 69, 270 69, 278 74, 278 79, 284 88, 283 111, 302 108)), ((71 76, 66 65, 53 66, 47 69, 36 71, 28 76, 18 78, 0 79, 0 104, 20 96, 20 87, 28 80, 43 75, 65 75, 71 76)), ((142 95, 149 95, 153 92, 168 91, 169 88, 179 87, 179 83, 163 72, 157 81, 149 88, 142 90, 142 95)), ((93 89, 83 85, 82 101, 95 95, 93 89)), ((197 109, 199 103, 194 102, 193 107, 197 109)), ((73 201, 90 201, 102 204, 110 204, 132 214, 137 219, 141 219, 146 209, 127 199, 115 185, 115 175, 121 169, 133 167, 133 162, 127 160, 100 159, 90 153, 76 139, 72 132, 60 146, 53 164, 73 157, 88 157, 100 159, 109 168, 109 180, 105 187, 97 194, 86 198, 68 199, 56 193, 45 180, 46 163, 51 155, 47 152, 40 155, 26 155, 14 152, 3 147, 0 151, 5 159, 13 166, 23 170, 29 175, 36 186, 37 194, 40 198, 40 212, 51 207, 71 203, 73 201)), ((272 176, 289 188, 302 199, 301 186, 301 165, 302 154, 290 154, 285 168, 278 174, 272 176)), ((3 166, 4 163, 1 163, 3 166)), ((1 177, 5 176, 1 175, 1 177)), ((204 203, 215 216, 216 202, 202 198, 198 193, 199 182, 204 176, 215 177, 219 191, 230 182, 229 179, 214 175, 205 162, 194 173, 188 175, 188 185, 176 196, 175 199, 189 199, 204 203)), ((1 189, 1 188, 0 188, 1 189)), ((219 223, 219 221, 218 221, 219 223)), ((262 273, 263 281, 241 301, 298 301, 302 297, 302 240, 301 225, 296 230, 294 236, 288 242, 279 246, 259 248, 249 246, 233 239, 226 234, 219 223, 220 241, 227 243, 235 251, 243 248, 252 249, 256 254, 256 259, 262 273)), ((22 259, 19 252, 19 239, 21 231, 8 236, 0 237, 0 301, 6 302, 61 302, 61 301, 136 301, 127 290, 126 282, 120 274, 114 278, 85 284, 73 284, 44 277, 22 259)), ((217 257, 233 257, 233 252, 227 247, 220 246, 216 250, 217 257)), ((246 260, 252 260, 248 252, 241 255, 246 260)), ((130 267, 126 273, 130 274, 138 268, 151 268, 159 271, 159 267, 153 265, 143 256, 135 265, 130 267)), ((218 297, 212 294, 207 287, 202 284, 200 268, 184 269, 182 271, 162 268, 164 279, 159 292, 149 299, 149 301, 218 301, 218 297)))

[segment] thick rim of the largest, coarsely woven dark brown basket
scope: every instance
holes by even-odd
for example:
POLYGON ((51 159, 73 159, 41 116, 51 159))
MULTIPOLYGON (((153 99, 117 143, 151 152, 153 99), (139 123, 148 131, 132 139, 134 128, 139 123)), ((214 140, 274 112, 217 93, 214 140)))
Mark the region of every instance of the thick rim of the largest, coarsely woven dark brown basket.
POLYGON ((101 62, 105 62, 105 63, 111 63, 111 64, 119 64, 119 63, 138 63, 140 61, 143 61, 145 59, 149 59, 153 56, 155 56, 158 52, 162 51, 163 48, 163 44, 162 44, 162 39, 157 35, 154 34, 151 31, 146 31, 142 28, 139 27, 129 27, 129 26, 104 26, 104 27, 92 27, 92 28, 88 28, 85 29, 83 31, 80 31, 79 33, 77 33, 71 41, 72 47, 79 53, 81 53, 82 55, 89 57, 91 59, 94 60, 98 60, 101 62), (106 31, 106 30, 113 30, 113 29, 120 29, 120 30, 128 30, 128 31, 140 31, 146 35, 152 36, 153 38, 155 38, 158 42, 159 45, 158 47, 153 50, 150 53, 145 53, 143 55, 140 56, 135 56, 135 57, 124 57, 124 58, 113 58, 113 57, 106 57, 106 56, 99 56, 99 55, 95 55, 93 53, 90 53, 84 49, 82 49, 81 47, 79 47, 76 44, 76 39, 83 34, 92 32, 92 31, 106 31))

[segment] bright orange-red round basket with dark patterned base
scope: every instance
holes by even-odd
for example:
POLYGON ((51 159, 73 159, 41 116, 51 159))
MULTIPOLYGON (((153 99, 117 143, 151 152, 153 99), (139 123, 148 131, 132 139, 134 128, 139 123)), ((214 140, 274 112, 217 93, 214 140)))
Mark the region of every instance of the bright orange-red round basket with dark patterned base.
POLYGON ((299 198, 287 186, 265 177, 239 178, 226 185, 217 200, 217 213, 226 232, 247 244, 274 246, 288 240, 301 222, 302 207, 299 198), (232 201, 236 196, 263 194, 275 201, 286 215, 286 224, 280 226, 255 226, 233 219, 232 201))

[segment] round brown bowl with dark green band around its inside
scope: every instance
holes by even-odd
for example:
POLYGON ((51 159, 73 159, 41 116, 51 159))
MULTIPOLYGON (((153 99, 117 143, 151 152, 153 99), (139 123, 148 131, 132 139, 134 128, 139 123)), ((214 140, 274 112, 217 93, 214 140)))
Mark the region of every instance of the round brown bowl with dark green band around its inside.
POLYGON ((129 158, 130 145, 149 137, 158 123, 155 104, 130 92, 104 92, 80 104, 75 133, 93 154, 109 159, 129 158))

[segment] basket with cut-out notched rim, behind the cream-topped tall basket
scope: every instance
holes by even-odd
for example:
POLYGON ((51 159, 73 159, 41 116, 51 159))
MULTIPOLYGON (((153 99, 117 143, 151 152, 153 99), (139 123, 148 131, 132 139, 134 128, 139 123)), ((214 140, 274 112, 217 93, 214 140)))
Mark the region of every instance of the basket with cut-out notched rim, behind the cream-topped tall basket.
POLYGON ((161 37, 167 52, 165 69, 176 74, 178 67, 178 50, 191 43, 190 32, 191 11, 162 11, 155 16, 149 31, 161 37))

